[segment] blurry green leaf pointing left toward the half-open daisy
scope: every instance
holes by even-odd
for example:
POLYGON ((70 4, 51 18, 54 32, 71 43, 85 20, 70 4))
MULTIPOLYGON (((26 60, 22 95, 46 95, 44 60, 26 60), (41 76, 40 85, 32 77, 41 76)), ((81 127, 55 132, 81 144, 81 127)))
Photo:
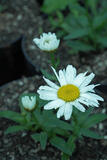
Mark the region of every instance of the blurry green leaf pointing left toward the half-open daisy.
POLYGON ((66 36, 64 39, 68 40, 68 39, 76 39, 76 38, 81 38, 84 37, 86 35, 88 35, 89 30, 86 28, 73 28, 72 30, 70 30, 70 34, 68 36, 66 36))

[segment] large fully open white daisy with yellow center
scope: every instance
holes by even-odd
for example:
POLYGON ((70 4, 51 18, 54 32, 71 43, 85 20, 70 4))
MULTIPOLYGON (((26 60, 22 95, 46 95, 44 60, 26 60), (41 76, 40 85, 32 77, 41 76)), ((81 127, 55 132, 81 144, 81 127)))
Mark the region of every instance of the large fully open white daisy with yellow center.
POLYGON ((50 101, 44 106, 44 109, 57 109, 57 118, 64 115, 65 120, 70 119, 73 107, 85 112, 86 106, 98 107, 99 101, 103 98, 96 95, 94 87, 96 85, 89 83, 94 78, 91 73, 86 76, 87 72, 76 75, 76 69, 72 65, 68 65, 66 69, 59 70, 59 75, 52 68, 58 81, 59 86, 44 77, 46 86, 40 86, 38 93, 41 99, 50 101))

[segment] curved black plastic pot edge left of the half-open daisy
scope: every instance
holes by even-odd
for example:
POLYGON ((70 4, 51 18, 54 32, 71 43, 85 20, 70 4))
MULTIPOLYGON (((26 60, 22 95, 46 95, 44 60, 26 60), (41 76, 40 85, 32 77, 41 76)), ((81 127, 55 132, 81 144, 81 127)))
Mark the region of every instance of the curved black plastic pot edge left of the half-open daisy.
POLYGON ((22 39, 21 48, 22 48, 22 52, 24 55, 24 62, 25 62, 26 68, 27 68, 27 70, 29 70, 30 75, 34 75, 34 74, 41 75, 40 68, 37 65, 34 65, 32 63, 31 59, 29 58, 29 56, 26 52, 25 41, 26 41, 26 37, 24 37, 22 39))

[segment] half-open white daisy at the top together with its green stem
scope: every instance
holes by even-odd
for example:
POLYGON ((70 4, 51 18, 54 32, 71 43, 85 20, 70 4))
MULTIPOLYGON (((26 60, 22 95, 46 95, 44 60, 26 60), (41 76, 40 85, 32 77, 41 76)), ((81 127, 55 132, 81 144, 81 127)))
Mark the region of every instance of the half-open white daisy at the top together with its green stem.
POLYGON ((40 38, 34 38, 37 47, 50 55, 50 62, 54 68, 59 65, 59 59, 55 59, 55 52, 59 47, 60 40, 57 39, 55 33, 43 33, 40 38))

